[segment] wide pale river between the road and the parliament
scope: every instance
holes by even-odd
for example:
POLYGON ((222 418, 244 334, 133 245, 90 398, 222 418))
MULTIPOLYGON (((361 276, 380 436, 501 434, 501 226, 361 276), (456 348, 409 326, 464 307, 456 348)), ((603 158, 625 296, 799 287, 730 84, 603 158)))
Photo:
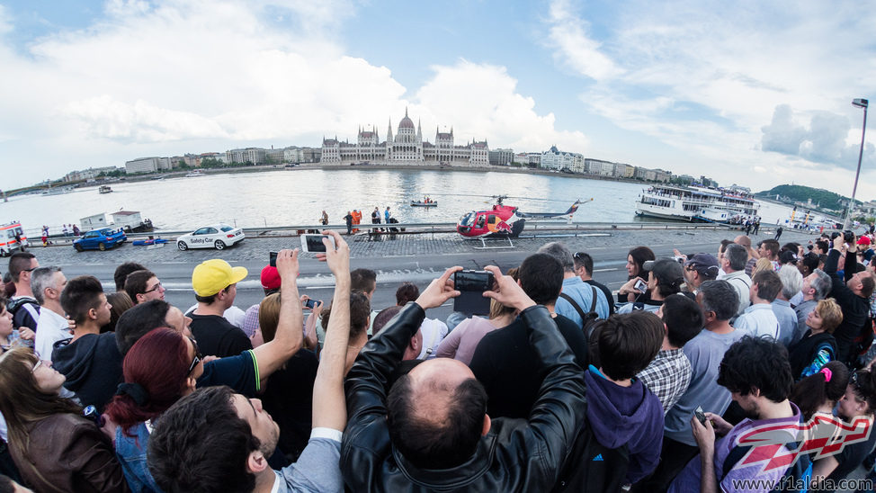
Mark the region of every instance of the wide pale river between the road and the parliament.
MULTIPOLYGON (((112 184, 112 193, 97 187, 59 195, 25 195, 0 202, 0 223, 21 220, 28 233, 113 211, 139 211, 159 229, 194 229, 214 222, 244 228, 316 224, 322 211, 331 224, 341 224, 347 211, 362 211, 370 222, 379 207, 400 222, 451 222, 466 211, 490 207, 490 195, 505 194, 505 204, 521 211, 566 211, 577 199, 585 202, 575 222, 637 220, 636 200, 646 184, 588 180, 566 175, 505 172, 426 171, 398 169, 294 169, 246 174, 217 174, 112 184), (428 194, 437 208, 410 207, 428 194)), ((764 223, 790 217, 787 207, 762 202, 764 223)), ((109 215, 107 220, 111 220, 109 215)))

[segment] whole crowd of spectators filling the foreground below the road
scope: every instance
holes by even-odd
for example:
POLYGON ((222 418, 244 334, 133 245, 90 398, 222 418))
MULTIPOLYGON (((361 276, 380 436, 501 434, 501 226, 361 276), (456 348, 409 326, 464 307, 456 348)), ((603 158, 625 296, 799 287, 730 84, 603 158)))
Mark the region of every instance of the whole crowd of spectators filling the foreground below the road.
POLYGON ((461 267, 375 307, 377 274, 351 270, 344 238, 323 233, 325 306, 299 292, 297 250, 262 269, 264 299, 246 309, 250 273, 221 259, 194 267, 185 309, 142 264, 119 265, 104 292, 12 255, 0 492, 832 490, 862 466, 872 477, 872 237, 740 235, 667 258, 635 247, 617 291, 594 280, 592 255, 551 242, 485 267, 488 314, 437 319, 461 267), (800 433, 812 423, 868 433, 818 453, 800 433), (771 441, 746 441, 764 429, 771 441))

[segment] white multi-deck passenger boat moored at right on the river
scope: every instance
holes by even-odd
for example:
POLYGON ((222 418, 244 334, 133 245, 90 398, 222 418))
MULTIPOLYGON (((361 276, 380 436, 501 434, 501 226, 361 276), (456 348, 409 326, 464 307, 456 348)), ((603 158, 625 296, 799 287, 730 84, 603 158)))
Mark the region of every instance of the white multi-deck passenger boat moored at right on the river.
POLYGON ((642 191, 636 214, 667 220, 729 222, 754 217, 760 207, 751 193, 702 186, 654 185, 642 191))

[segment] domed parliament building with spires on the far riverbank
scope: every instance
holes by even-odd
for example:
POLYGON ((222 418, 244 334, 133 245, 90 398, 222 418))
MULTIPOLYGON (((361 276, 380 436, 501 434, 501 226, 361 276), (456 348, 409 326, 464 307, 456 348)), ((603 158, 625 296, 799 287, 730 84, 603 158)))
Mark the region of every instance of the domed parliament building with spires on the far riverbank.
POLYGON ((377 131, 359 129, 355 143, 335 139, 323 139, 322 163, 371 163, 399 165, 444 165, 444 166, 489 166, 487 141, 471 141, 464 146, 453 144, 453 128, 450 132, 435 130, 435 143, 423 140, 419 122, 414 128, 405 110, 405 118, 398 122, 398 131, 392 135, 389 121, 387 138, 380 142, 377 131))

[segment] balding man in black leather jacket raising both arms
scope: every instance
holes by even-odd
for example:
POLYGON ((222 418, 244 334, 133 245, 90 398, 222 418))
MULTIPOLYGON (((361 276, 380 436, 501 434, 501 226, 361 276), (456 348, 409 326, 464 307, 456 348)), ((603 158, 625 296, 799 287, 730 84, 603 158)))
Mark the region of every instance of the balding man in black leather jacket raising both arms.
POLYGON ((544 381, 528 421, 490 421, 483 387, 463 363, 436 358, 416 366, 387 396, 389 374, 401 362, 425 309, 459 295, 452 267, 399 312, 362 349, 347 375, 350 419, 341 471, 353 491, 547 491, 585 420, 583 372, 547 309, 510 276, 487 266, 495 291, 520 310, 544 381), (389 404, 387 404, 389 400, 389 404))

